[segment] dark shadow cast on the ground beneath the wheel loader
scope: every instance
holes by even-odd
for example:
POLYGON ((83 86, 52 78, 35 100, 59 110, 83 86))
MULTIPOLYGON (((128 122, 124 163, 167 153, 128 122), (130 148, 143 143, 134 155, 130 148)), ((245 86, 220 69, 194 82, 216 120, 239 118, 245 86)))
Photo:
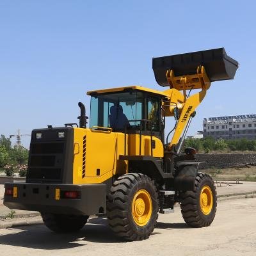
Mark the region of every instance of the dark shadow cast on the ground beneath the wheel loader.
MULTIPOLYGON (((156 228, 188 228, 184 223, 157 223, 156 228)), ((79 232, 56 234, 44 225, 10 228, 13 234, 0 236, 0 244, 43 250, 61 250, 86 246, 92 243, 129 243, 113 234, 104 218, 90 219, 79 232)), ((8 230, 6 232, 8 232, 8 230)), ((153 232, 151 236, 161 234, 153 232)))

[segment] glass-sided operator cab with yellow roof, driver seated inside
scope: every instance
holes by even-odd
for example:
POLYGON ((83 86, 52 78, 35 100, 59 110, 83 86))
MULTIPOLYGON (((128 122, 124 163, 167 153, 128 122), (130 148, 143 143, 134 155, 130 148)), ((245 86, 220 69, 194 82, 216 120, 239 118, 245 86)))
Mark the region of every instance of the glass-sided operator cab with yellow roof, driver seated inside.
POLYGON ((90 128, 114 132, 163 135, 161 102, 166 95, 140 86, 88 92, 90 128))

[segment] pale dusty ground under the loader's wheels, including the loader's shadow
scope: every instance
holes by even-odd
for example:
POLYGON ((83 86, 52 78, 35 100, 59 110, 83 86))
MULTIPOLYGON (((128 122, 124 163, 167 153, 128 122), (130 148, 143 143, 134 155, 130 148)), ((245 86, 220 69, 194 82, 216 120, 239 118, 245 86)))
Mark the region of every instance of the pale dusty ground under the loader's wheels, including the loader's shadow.
POLYGON ((1 255, 36 256, 255 256, 256 199, 218 203, 210 227, 189 228, 177 207, 159 214, 149 239, 125 242, 109 229, 106 220, 89 220, 80 232, 55 234, 44 225, 0 230, 1 255))

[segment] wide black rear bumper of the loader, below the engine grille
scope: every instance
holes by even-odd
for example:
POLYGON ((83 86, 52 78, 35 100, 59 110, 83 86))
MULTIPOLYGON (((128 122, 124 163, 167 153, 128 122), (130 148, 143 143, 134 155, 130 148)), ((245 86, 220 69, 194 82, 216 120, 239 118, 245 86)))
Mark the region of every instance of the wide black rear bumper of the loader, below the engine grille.
POLYGON ((4 188, 17 191, 14 196, 4 195, 4 205, 10 209, 75 215, 106 213, 106 184, 6 183, 4 188), (64 198, 65 191, 77 191, 79 196, 64 198))

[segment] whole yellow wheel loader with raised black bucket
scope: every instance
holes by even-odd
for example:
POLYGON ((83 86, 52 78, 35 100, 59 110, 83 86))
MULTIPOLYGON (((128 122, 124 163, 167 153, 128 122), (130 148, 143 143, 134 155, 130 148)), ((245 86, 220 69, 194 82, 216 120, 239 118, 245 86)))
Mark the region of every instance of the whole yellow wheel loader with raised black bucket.
POLYGON ((90 215, 105 215, 113 232, 130 241, 147 239, 158 213, 173 212, 175 203, 189 226, 209 226, 214 182, 198 172, 195 149, 183 148, 184 139, 211 82, 233 79, 237 67, 224 48, 164 56, 153 58, 157 83, 168 87, 163 92, 88 92, 90 127, 79 102, 79 125, 33 130, 26 182, 5 184, 4 205, 41 212, 54 232, 74 232, 90 215), (168 116, 176 124, 164 134, 168 116))

